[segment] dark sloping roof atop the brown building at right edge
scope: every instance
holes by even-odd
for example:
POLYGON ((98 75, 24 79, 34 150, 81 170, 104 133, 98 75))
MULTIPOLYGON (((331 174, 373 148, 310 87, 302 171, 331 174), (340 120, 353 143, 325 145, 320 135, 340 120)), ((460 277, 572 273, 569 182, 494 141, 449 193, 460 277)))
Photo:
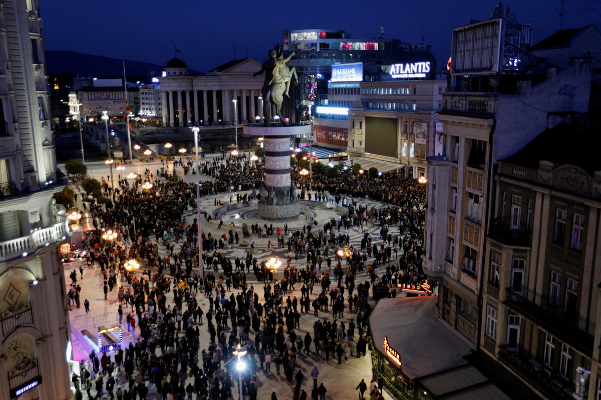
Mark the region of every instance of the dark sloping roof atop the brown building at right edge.
POLYGON ((501 161, 531 169, 538 169, 538 163, 542 160, 556 165, 571 164, 593 176, 594 172, 601 170, 601 158, 596 146, 587 146, 586 143, 598 140, 599 128, 592 121, 561 122, 538 134, 520 151, 501 161))

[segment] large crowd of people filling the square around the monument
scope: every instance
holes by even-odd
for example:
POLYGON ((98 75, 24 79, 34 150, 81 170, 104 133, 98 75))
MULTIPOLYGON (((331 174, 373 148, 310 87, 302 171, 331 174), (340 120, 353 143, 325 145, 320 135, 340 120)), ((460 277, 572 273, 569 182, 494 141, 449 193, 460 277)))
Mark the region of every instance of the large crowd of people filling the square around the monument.
MULTIPOLYGON (((202 182, 201 197, 233 193, 243 200, 246 193, 240 191, 260 187, 263 176, 263 164, 246 154, 215 157, 201 168, 213 177, 202 182)), ((88 267, 102 272, 105 299, 117 292, 115 311, 124 315, 128 330, 139 331, 139 338, 114 354, 92 352, 82 360, 84 372, 74 378, 77 387, 90 398, 107 394, 137 400, 156 392, 163 399, 229 399, 239 390, 233 351, 242 344, 248 351, 242 390, 251 400, 257 399, 258 377, 274 374, 272 363, 275 374, 290 383, 293 399, 325 399, 317 366, 311 371, 313 388, 307 389, 299 362, 311 365, 321 358, 341 364, 349 356, 365 356, 373 302, 395 297, 397 283, 424 279, 424 189, 413 179, 293 178, 299 188, 305 185, 309 199, 328 201, 325 191, 336 196, 346 215, 302 230, 286 226, 274 231, 266 225, 265 232, 275 234, 278 245, 288 246, 279 279, 252 251, 243 260, 224 254, 225 243, 234 243, 231 227, 229 238, 203 233, 205 273, 200 276, 200 221, 186 216, 194 203, 194 185, 159 181, 147 170, 131 185, 119 179, 114 190, 105 182, 107 204, 82 196, 98 229, 85 240, 88 267), (154 179, 152 190, 141 191, 145 179, 154 179), (367 209, 354 201, 357 197, 389 206, 367 209), (117 239, 101 240, 102 228, 116 231, 117 239), (359 243, 350 243, 352 231, 361 234, 359 243), (338 255, 337 248, 347 252, 338 255), (123 266, 131 258, 144 268, 127 272, 123 266), (312 332, 302 335, 301 320, 311 318, 317 318, 312 332), (201 348, 207 336, 210 344, 201 348)), ((79 306, 76 278, 73 302, 77 298, 79 306)), ((372 381, 374 400, 381 398, 381 390, 382 384, 372 381)))

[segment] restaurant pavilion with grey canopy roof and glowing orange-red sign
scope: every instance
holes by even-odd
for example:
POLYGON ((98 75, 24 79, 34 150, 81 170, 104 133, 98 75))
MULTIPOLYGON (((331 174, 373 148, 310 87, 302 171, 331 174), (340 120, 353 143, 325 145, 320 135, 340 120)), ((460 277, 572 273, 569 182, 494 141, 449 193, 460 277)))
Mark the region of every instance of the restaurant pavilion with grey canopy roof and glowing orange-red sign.
POLYGON ((438 296, 380 300, 370 315, 377 371, 405 398, 509 399, 471 365, 474 348, 438 319, 438 296))

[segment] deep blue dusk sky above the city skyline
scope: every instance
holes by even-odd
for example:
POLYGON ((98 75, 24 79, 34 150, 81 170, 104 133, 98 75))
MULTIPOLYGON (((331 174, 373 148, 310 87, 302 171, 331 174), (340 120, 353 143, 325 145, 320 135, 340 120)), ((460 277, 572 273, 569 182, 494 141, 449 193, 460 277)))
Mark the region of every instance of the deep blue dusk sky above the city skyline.
MULTIPOLYGON (((207 71, 236 58, 259 62, 284 29, 343 29, 352 38, 426 44, 439 66, 451 48, 451 30, 486 20, 496 0, 431 1, 213 1, 40 0, 47 50, 70 50, 165 65, 177 49, 190 68, 207 71)), ((560 29, 561 0, 504 1, 520 23, 531 23, 533 44, 560 29)), ((564 0, 563 28, 601 29, 601 1, 564 0)))

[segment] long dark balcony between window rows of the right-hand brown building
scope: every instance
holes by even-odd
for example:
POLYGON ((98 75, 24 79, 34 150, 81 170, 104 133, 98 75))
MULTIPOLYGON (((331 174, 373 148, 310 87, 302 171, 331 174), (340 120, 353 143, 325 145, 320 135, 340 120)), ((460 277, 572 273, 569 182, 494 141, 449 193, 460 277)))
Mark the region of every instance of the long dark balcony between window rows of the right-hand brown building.
POLYGON ((558 312, 531 302, 526 297, 511 291, 510 288, 505 290, 504 303, 585 356, 593 356, 593 335, 589 335, 584 330, 579 329, 573 320, 569 320, 558 312))

